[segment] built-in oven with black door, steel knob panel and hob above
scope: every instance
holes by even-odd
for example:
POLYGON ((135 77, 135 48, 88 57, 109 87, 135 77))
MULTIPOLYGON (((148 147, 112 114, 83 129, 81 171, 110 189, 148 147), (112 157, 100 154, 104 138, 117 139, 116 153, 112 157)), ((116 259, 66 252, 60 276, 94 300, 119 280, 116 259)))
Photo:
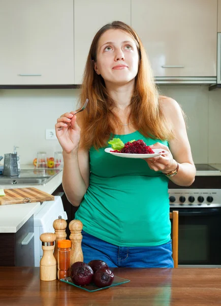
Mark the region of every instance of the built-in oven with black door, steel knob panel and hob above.
POLYGON ((169 182, 170 212, 179 212, 178 265, 221 267, 220 171, 208 165, 196 168, 192 186, 169 182))

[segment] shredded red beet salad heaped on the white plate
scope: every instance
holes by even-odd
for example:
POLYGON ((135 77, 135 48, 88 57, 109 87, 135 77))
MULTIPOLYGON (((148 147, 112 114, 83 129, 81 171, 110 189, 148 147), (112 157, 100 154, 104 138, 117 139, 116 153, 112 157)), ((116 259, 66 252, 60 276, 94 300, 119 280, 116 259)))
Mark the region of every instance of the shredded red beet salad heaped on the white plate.
POLYGON ((111 152, 130 154, 154 154, 154 151, 141 139, 133 142, 129 141, 125 143, 124 147, 121 150, 113 150, 111 152))

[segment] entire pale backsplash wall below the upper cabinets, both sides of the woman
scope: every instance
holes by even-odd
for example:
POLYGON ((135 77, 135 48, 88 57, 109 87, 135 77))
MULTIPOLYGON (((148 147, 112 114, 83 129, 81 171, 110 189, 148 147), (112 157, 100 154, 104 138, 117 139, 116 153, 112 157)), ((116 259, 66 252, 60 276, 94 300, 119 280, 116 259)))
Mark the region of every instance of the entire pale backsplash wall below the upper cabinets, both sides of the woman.
MULTIPOLYGON (((187 116, 187 133, 195 163, 221 163, 221 89, 208 86, 162 85, 162 94, 174 98, 187 116)), ((37 151, 53 157, 61 150, 57 140, 46 140, 45 129, 75 110, 79 89, 0 90, 0 155, 18 146, 21 164, 31 164, 37 151)))

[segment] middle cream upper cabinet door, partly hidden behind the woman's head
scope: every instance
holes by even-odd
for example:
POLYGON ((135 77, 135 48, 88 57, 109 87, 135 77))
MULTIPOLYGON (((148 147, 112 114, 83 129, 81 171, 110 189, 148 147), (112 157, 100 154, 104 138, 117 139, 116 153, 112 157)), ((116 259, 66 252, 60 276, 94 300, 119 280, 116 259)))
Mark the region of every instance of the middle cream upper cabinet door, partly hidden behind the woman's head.
POLYGON ((83 71, 94 35, 103 25, 114 20, 131 24, 131 0, 74 1, 75 84, 82 83, 83 71))

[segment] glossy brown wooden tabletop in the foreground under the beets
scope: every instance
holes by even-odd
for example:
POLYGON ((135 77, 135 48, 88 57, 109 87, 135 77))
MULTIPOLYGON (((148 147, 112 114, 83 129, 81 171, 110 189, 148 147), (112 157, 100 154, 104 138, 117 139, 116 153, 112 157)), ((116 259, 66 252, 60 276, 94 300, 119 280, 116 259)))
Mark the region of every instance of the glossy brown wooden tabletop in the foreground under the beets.
POLYGON ((87 292, 58 280, 40 281, 38 267, 0 267, 0 305, 212 306, 221 304, 221 269, 134 269, 113 272, 131 282, 87 292))

